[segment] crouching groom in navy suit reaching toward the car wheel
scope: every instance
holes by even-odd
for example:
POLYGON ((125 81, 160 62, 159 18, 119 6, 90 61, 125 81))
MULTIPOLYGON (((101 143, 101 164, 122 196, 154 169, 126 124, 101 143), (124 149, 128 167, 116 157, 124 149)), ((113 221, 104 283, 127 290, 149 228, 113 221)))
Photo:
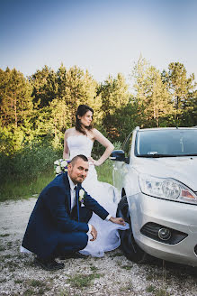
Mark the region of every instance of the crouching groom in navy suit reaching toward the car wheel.
POLYGON ((55 258, 80 256, 78 251, 87 245, 88 233, 92 241, 96 239, 96 229, 87 224, 93 211, 103 220, 125 225, 121 217, 112 217, 82 189, 88 167, 85 155, 74 157, 67 165, 67 172, 41 191, 32 210, 22 246, 36 254, 36 263, 46 270, 64 268, 55 258))

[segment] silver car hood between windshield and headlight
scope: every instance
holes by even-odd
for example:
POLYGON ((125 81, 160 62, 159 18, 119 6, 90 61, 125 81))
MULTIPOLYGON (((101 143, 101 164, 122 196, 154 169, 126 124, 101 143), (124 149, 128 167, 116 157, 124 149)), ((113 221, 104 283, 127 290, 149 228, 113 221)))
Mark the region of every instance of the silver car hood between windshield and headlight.
POLYGON ((133 167, 141 172, 160 178, 173 178, 197 191, 197 157, 135 157, 133 167))

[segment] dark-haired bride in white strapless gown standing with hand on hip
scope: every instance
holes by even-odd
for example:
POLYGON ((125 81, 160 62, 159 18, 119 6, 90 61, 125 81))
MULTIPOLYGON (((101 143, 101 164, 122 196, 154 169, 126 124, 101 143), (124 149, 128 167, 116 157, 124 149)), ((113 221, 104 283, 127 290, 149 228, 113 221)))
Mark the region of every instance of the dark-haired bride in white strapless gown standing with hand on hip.
MULTIPOLYGON (((112 153, 113 145, 103 134, 93 128, 94 110, 90 106, 80 105, 76 111, 76 126, 67 129, 64 139, 64 159, 72 159, 77 154, 84 154, 89 160, 89 171, 82 186, 94 199, 96 199, 113 217, 116 216, 116 208, 121 196, 112 185, 97 180, 94 166, 101 165, 112 153), (105 152, 98 161, 91 157, 94 141, 98 141, 105 147, 105 152)), ((88 222, 97 230, 97 238, 88 240, 82 254, 91 254, 96 257, 103 256, 104 252, 112 251, 121 245, 118 229, 126 229, 121 225, 103 221, 93 214, 88 222)), ((91 238, 91 237, 90 237, 91 238)))

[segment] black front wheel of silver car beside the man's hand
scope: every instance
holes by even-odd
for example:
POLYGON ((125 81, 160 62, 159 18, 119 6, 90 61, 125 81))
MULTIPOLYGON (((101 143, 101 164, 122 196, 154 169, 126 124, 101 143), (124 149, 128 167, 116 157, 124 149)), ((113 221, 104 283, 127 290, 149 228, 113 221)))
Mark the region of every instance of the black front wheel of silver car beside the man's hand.
POLYGON ((123 217, 125 222, 130 224, 130 229, 119 230, 121 236, 121 249, 126 257, 135 263, 145 263, 148 261, 148 254, 136 244, 131 227, 130 210, 127 197, 121 198, 117 208, 117 217, 123 217))

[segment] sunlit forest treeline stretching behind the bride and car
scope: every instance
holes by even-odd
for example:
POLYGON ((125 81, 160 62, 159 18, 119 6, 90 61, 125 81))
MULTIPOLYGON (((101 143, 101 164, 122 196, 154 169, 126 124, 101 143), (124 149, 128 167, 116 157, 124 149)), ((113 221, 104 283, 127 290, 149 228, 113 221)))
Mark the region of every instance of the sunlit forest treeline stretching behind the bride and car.
POLYGON ((94 126, 112 142, 122 142, 137 125, 197 125, 196 82, 182 63, 160 72, 140 57, 130 80, 132 85, 120 73, 98 83, 87 70, 63 64, 28 78, 17 69, 0 69, 0 153, 12 155, 46 141, 62 147, 80 104, 94 108, 94 126))

